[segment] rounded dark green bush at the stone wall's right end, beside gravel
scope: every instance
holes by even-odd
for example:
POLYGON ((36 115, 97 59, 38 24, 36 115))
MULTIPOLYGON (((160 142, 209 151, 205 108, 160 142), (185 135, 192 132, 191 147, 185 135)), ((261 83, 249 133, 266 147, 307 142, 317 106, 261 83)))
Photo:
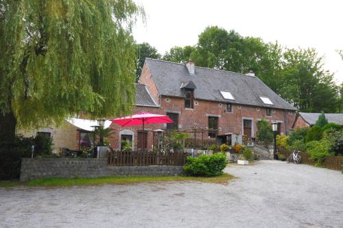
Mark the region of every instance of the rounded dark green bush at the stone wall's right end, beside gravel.
POLYGON ((226 156, 222 153, 187 157, 183 170, 191 176, 218 176, 227 165, 226 156))

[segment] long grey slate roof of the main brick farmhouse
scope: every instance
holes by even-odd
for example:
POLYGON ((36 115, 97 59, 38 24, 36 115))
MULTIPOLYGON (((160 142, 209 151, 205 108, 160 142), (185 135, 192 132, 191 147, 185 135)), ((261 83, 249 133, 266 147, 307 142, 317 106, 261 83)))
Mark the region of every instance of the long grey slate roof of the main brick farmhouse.
POLYGON ((146 58, 145 65, 160 95, 185 97, 184 90, 180 89, 182 82, 192 81, 196 86, 194 97, 199 100, 296 110, 255 76, 204 67, 195 67, 195 74, 191 75, 184 64, 152 58, 146 58), (235 100, 225 100, 220 91, 230 92, 235 100), (274 105, 264 104, 259 96, 270 98, 274 105))

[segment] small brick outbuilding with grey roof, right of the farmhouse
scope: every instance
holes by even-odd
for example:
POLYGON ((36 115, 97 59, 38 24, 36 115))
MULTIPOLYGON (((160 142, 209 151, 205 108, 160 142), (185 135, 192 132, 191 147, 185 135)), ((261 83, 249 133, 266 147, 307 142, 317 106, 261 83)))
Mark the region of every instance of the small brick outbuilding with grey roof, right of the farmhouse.
MULTIPOLYGON (((294 121, 293 128, 304 128, 306 126, 314 126, 320 113, 298 113, 294 121)), ((339 124, 343 126, 343 113, 325 113, 325 117, 329 123, 339 124)))

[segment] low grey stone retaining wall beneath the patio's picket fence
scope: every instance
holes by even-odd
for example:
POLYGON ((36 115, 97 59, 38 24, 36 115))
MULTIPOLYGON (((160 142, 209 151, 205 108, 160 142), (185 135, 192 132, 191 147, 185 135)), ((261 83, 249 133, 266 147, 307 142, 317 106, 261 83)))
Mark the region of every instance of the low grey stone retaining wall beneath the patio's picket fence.
POLYGON ((108 166, 107 159, 46 158, 21 161, 21 181, 45 177, 176 176, 181 166, 108 166))

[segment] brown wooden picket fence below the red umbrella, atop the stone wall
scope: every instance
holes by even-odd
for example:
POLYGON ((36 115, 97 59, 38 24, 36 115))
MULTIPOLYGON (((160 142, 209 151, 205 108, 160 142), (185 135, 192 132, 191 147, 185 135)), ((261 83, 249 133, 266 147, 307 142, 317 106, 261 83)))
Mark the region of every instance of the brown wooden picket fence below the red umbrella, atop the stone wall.
POLYGON ((184 152, 137 152, 111 151, 110 166, 183 166, 187 155, 184 152))

